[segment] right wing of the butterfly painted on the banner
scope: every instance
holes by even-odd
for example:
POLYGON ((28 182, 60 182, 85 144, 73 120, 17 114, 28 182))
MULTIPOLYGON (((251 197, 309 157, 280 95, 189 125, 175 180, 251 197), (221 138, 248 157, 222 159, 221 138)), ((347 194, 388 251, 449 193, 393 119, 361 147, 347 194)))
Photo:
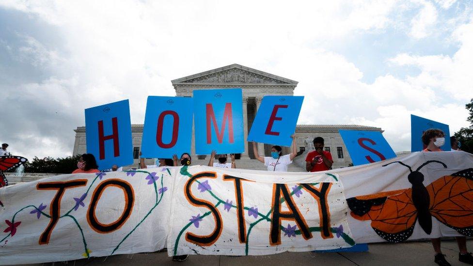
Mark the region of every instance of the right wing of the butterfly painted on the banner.
POLYGON ((473 236, 473 168, 443 176, 427 191, 433 217, 462 235, 473 236))

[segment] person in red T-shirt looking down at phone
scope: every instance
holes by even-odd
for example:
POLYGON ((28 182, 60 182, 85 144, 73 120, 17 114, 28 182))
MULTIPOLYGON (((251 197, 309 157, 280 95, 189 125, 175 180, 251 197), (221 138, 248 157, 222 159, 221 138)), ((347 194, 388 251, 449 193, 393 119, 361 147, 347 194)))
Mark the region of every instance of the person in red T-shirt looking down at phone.
POLYGON ((315 151, 307 154, 305 158, 305 170, 307 172, 319 172, 330 170, 333 164, 332 155, 324 151, 324 139, 317 137, 314 139, 315 151))

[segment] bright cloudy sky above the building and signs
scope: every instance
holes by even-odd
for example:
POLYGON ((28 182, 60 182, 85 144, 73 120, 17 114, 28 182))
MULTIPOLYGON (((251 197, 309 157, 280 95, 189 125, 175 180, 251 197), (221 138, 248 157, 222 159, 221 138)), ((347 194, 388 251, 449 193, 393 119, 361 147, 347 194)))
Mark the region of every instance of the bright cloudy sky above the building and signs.
POLYGON ((0 1, 0 141, 71 156, 84 109, 233 63, 299 81, 298 124, 381 127, 410 150, 410 114, 468 126, 473 2, 0 1))

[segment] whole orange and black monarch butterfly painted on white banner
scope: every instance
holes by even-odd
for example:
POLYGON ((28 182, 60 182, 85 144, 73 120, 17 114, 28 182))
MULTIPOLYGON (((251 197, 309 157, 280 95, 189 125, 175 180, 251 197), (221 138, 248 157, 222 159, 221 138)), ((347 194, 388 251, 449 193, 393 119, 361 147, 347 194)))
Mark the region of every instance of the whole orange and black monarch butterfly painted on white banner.
POLYGON ((419 172, 422 167, 429 163, 447 166, 430 160, 412 171, 409 165, 400 161, 392 163, 410 170, 408 180, 412 187, 348 198, 353 218, 371 220, 373 230, 393 243, 407 240, 417 220, 424 232, 430 235, 432 217, 461 235, 473 236, 473 168, 442 176, 424 186, 424 175, 419 172))

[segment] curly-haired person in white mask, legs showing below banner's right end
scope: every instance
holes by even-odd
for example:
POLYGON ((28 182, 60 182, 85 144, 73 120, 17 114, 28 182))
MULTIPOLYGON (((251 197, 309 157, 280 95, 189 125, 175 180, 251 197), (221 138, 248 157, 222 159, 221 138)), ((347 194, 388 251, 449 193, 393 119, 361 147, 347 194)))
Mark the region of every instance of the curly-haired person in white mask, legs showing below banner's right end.
MULTIPOLYGON (((440 129, 428 129, 422 134, 422 142, 427 146, 423 152, 441 152, 440 147, 445 143, 445 133, 440 129)), ((473 265, 472 253, 469 253, 466 248, 466 237, 457 236, 455 238, 457 239, 458 249, 460 250, 458 260, 473 265)), ((440 237, 430 240, 432 241, 432 246, 435 251, 434 262, 441 266, 449 266, 450 263, 445 260, 445 255, 442 254, 440 237)))

